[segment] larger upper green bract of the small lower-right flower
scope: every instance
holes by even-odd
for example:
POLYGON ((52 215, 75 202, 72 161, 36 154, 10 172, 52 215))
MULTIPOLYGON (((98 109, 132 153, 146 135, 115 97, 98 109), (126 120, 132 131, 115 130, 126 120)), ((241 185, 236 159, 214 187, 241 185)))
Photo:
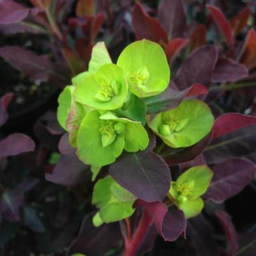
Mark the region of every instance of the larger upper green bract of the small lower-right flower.
POLYGON ((177 178, 175 187, 177 188, 184 183, 193 182, 188 199, 196 199, 197 197, 200 197, 200 195, 206 193, 212 177, 213 171, 209 169, 209 167, 206 165, 198 165, 183 172, 183 174, 177 178))

